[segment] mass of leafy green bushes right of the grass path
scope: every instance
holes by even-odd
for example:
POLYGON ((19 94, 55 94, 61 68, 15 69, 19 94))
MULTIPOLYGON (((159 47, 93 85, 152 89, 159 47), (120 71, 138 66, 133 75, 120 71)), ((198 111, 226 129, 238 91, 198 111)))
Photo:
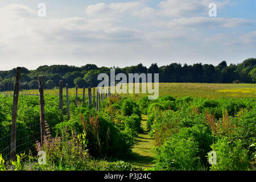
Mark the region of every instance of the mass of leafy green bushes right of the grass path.
POLYGON ((255 98, 160 97, 137 102, 156 142, 158 170, 247 170, 255 160, 255 98), (217 164, 210 165, 210 151, 217 164))

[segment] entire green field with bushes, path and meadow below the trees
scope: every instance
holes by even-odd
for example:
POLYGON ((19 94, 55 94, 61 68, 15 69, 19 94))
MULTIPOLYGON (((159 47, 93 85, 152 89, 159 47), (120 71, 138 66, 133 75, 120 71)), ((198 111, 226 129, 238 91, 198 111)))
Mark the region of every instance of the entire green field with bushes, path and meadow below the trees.
POLYGON ((16 145, 22 159, 13 164, 6 159, 13 97, 0 95, 0 170, 255 170, 255 84, 170 83, 159 84, 159 92, 158 100, 111 96, 96 111, 88 101, 82 104, 81 89, 76 107, 71 91, 67 121, 65 97, 61 112, 59 90, 46 90, 43 146, 36 142, 39 97, 20 96, 16 145), (40 150, 46 152, 44 165, 36 156, 40 150), (210 151, 216 164, 208 163, 210 151))

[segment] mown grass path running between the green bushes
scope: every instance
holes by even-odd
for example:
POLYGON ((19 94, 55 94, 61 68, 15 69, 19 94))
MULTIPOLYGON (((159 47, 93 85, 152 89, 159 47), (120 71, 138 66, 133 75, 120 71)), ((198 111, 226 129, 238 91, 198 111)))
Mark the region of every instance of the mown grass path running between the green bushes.
POLYGON ((135 166, 141 167, 142 169, 149 169, 152 167, 152 160, 154 156, 153 150, 155 147, 155 140, 147 133, 147 119, 147 115, 142 115, 143 134, 138 135, 137 143, 133 148, 134 158, 127 161, 135 166))

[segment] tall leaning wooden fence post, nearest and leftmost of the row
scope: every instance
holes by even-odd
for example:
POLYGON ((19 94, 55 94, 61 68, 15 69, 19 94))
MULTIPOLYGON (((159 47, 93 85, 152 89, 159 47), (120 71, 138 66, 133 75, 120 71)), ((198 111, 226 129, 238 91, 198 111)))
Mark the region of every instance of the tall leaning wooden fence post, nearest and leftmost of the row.
POLYGON ((17 121, 17 106, 19 101, 19 84, 21 77, 21 68, 16 69, 16 76, 14 82, 14 94, 13 94, 13 113, 11 116, 11 151, 10 158, 11 160, 16 159, 16 121, 17 121))

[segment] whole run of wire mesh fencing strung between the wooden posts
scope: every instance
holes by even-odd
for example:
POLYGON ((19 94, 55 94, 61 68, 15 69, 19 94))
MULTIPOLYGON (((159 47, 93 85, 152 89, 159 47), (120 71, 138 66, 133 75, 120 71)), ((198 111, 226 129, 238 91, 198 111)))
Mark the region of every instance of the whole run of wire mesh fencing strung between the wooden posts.
MULTIPOLYGON (((25 81, 20 78, 19 101, 15 126, 15 154, 26 152, 26 154, 36 155, 36 141, 42 140, 41 110, 39 108, 39 83, 23 84, 24 82, 25 81)), ((52 96, 47 98, 48 102, 55 99, 59 101, 59 88, 46 84, 44 84, 43 87, 44 96, 52 96)), ((2 154, 3 158, 6 160, 11 158, 11 137, 14 135, 14 133, 12 133, 14 122, 12 119, 14 89, 15 85, 11 85, 9 82, 0 85, 0 154, 2 154)), ((96 93, 92 93, 92 89, 90 88, 71 88, 68 90, 68 98, 70 99, 70 97, 75 96, 77 106, 77 96, 83 96, 83 103, 85 102, 86 97, 88 98, 88 105, 96 107, 95 102, 97 102, 96 110, 100 110, 100 100, 104 100, 104 97, 110 96, 109 90, 105 90, 105 94, 103 91, 98 90, 97 92, 97 89, 93 91, 96 91, 96 93)), ((67 91, 66 89, 63 89, 64 102, 68 102, 67 97, 65 97, 66 95, 67 91)), ((54 106, 59 107, 59 104, 60 103, 57 102, 54 106)), ((63 121, 62 119, 64 118, 64 115, 68 115, 69 113, 67 113, 67 111, 60 111, 60 109, 56 113, 52 113, 51 111, 48 111, 50 109, 48 107, 51 106, 46 105, 46 107, 45 118, 51 131, 52 127, 63 121)), ((70 118, 70 116, 67 116, 67 118, 70 118)))

